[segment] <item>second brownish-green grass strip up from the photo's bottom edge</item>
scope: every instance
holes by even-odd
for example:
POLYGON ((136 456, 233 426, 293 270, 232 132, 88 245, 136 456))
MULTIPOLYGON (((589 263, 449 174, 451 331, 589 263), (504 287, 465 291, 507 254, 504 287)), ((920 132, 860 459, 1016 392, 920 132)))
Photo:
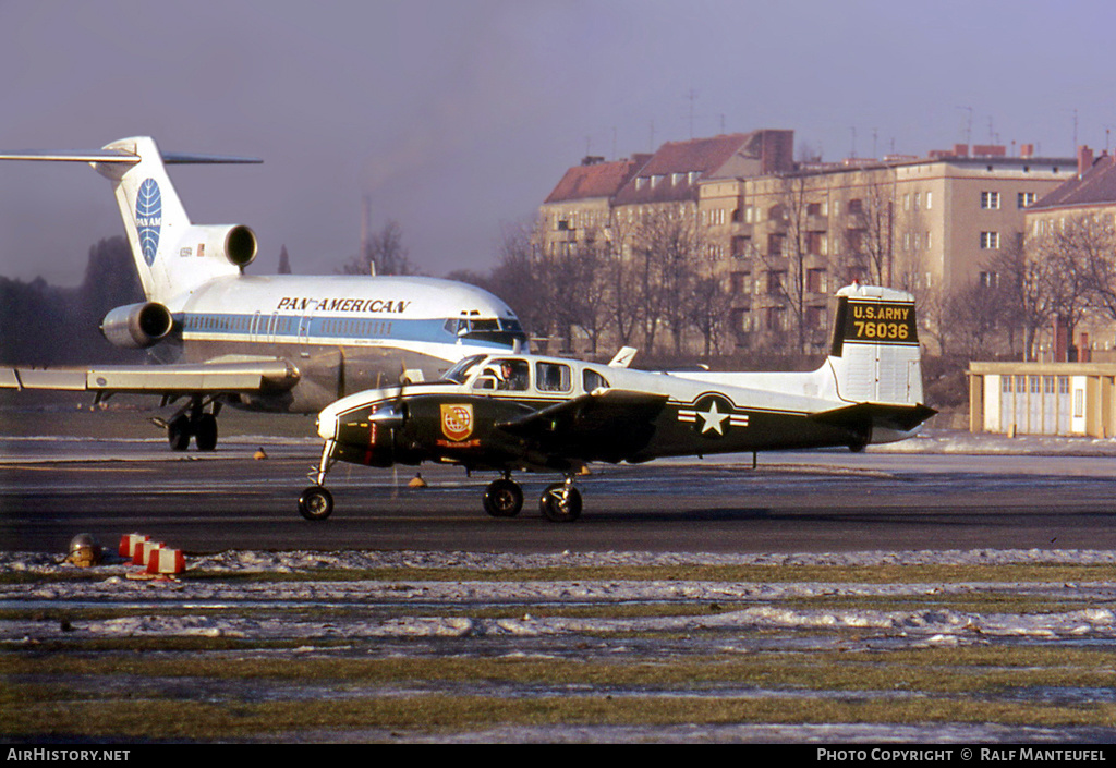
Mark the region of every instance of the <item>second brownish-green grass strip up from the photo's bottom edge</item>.
POLYGON ((0 674, 65 681, 76 676, 198 678, 223 681, 355 684, 500 681, 594 687, 745 685, 809 691, 995 692, 1009 688, 1116 688, 1116 650, 954 647, 857 653, 723 654, 600 662, 561 659, 273 659, 212 654, 48 654, 0 656, 0 674))

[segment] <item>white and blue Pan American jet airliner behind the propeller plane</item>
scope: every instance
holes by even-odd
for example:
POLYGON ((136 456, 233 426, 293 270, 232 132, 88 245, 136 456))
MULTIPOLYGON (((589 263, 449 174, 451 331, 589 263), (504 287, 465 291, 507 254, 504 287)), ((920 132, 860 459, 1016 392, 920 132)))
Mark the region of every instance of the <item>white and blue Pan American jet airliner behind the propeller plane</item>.
MULTIPOLYGON (((113 309, 113 344, 162 365, 0 368, 0 387, 158 394, 185 404, 166 421, 171 448, 217 447, 222 404, 315 413, 388 383, 437 378, 462 357, 526 349, 511 309, 488 291, 422 277, 243 273, 256 234, 190 222, 165 165, 258 163, 163 154, 150 137, 92 152, 0 153, 0 160, 89 163, 112 181, 146 301, 113 309)), ((59 329, 65 333, 64 328, 59 329)))

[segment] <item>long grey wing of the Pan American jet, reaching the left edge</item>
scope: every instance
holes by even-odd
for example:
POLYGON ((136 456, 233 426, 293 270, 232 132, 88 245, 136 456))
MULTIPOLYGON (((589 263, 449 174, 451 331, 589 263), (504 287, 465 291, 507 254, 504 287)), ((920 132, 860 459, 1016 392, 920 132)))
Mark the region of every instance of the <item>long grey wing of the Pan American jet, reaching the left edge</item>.
POLYGON ((0 388, 185 395, 289 390, 298 371, 283 361, 174 365, 103 365, 88 368, 0 368, 0 388))

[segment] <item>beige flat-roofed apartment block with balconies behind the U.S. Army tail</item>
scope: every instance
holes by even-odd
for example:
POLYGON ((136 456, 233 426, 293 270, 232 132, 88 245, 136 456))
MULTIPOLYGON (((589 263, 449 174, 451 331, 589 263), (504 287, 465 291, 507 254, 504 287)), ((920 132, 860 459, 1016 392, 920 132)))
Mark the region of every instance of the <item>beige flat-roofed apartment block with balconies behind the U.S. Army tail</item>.
MULTIPOLYGON (((795 173, 710 181, 702 207, 735 199, 725 243, 732 326, 741 344, 770 343, 796 324, 821 351, 831 294, 853 280, 914 292, 933 339, 943 299, 999 279, 997 256, 1020 247, 1027 209, 1072 175, 1071 159, 1009 157, 965 146, 930 157, 886 157, 800 167, 795 173)), ((711 234, 713 234, 711 232, 711 234)))

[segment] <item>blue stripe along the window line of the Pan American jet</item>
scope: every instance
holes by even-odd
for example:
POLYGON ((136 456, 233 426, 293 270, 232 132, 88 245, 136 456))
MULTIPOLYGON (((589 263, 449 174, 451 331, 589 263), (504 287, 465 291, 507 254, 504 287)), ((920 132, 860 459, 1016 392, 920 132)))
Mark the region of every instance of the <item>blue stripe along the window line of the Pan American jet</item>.
MULTIPOLYGON (((429 318, 421 320, 398 318, 353 319, 338 316, 295 315, 275 316, 232 313, 180 313, 174 316, 187 340, 239 340, 276 343, 320 343, 337 344, 358 339, 387 342, 423 342, 433 344, 456 344, 456 334, 446 329, 446 321, 456 318, 429 318), (254 323, 254 327, 253 327, 254 323), (304 326, 304 324, 306 324, 304 326)), ((470 346, 491 346, 507 349, 510 344, 499 344, 475 338, 468 339, 470 346)))

